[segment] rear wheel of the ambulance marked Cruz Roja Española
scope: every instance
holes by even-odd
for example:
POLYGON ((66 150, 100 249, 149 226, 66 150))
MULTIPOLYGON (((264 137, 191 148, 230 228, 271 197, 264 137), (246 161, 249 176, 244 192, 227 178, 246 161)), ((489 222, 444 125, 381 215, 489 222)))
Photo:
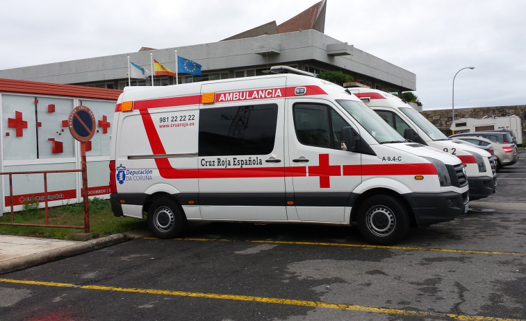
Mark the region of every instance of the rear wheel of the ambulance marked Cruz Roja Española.
POLYGON ((173 200, 161 198, 154 201, 148 209, 148 227, 158 238, 180 236, 186 227, 186 216, 173 200))

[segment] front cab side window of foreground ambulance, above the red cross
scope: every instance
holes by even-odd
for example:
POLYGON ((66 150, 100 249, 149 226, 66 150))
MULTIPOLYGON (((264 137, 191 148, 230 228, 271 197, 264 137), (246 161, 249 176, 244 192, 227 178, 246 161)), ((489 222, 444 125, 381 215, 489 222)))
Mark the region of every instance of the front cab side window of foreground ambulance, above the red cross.
POLYGON ((347 122, 325 105, 296 104, 293 108, 297 140, 304 145, 340 149, 347 122))

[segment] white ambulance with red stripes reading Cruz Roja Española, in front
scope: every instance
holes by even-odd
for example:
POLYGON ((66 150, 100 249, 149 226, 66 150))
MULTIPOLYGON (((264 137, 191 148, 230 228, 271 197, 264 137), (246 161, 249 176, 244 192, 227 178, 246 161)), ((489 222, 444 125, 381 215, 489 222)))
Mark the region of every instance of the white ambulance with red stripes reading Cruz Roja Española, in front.
POLYGON ((404 141, 318 78, 126 87, 113 124, 113 212, 146 218, 160 238, 229 220, 358 225, 389 244, 468 209, 457 157, 404 141))

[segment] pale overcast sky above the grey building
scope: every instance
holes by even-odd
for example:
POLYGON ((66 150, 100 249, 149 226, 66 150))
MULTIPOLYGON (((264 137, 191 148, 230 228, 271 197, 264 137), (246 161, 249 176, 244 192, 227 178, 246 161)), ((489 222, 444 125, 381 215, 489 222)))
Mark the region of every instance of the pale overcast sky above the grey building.
MULTIPOLYGON (((2 0, 0 70, 217 42, 318 0, 2 0)), ((424 110, 526 104, 526 1, 327 0, 325 34, 416 73, 424 110)), ((191 58, 190 58, 191 59, 191 58)))

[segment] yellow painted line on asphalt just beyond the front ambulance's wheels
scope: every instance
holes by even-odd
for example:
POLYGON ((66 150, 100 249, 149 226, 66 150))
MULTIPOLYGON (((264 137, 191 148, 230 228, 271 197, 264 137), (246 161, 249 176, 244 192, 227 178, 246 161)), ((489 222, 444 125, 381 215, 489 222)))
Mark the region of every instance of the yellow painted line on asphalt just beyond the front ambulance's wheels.
MULTIPOLYGON (((156 239, 156 238, 148 238, 156 239)), ((223 238, 174 238, 178 241, 223 241, 234 242, 223 238)), ((271 240, 253 240, 243 241, 249 243, 270 243, 270 244, 291 244, 291 245, 320 245, 320 246, 340 246, 346 248, 380 248, 388 250, 413 250, 428 252, 450 252, 450 253, 468 253, 468 254, 492 254, 492 255, 512 255, 516 257, 526 257, 526 253, 520 252, 498 252, 498 251, 478 251, 478 250, 454 250, 441 248, 418 248, 413 246, 387 246, 387 245, 368 245, 368 244, 350 244, 350 243, 327 243, 327 242, 297 242, 297 241, 271 241, 271 240)))

